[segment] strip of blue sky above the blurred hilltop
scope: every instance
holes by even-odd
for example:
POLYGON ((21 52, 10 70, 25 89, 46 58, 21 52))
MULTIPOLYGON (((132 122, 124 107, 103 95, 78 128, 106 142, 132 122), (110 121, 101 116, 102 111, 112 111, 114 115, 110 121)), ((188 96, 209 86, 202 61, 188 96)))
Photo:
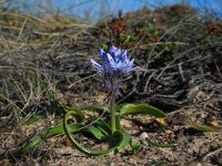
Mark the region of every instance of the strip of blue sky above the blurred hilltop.
POLYGON ((117 14, 119 10, 123 13, 142 7, 154 10, 174 3, 189 4, 204 15, 222 17, 222 0, 1 0, 4 10, 13 9, 43 17, 63 13, 91 22, 117 14))

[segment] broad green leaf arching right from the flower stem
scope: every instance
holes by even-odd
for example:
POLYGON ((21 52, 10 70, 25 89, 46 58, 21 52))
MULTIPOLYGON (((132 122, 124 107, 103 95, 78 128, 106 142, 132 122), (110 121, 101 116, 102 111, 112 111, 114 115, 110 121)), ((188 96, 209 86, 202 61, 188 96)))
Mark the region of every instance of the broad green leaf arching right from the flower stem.
POLYGON ((120 110, 120 115, 135 115, 135 114, 148 114, 154 117, 165 117, 165 114, 157 107, 148 104, 125 104, 120 110))

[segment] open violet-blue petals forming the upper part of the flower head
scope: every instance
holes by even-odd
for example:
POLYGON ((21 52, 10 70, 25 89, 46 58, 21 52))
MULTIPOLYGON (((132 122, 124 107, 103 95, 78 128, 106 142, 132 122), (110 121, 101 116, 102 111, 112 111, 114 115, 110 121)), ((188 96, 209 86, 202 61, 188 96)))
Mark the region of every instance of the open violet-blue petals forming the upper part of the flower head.
POLYGON ((100 49, 101 64, 91 60, 94 66, 103 75, 109 73, 122 73, 123 75, 130 73, 133 66, 133 59, 127 56, 127 50, 119 50, 115 46, 110 46, 109 51, 100 49))

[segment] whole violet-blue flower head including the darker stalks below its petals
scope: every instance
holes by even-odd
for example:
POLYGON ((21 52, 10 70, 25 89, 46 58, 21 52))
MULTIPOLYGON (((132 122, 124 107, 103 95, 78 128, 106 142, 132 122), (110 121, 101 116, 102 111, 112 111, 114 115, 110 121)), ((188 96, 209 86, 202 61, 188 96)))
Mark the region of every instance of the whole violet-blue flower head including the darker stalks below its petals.
POLYGON ((132 71, 134 60, 128 58, 127 50, 119 50, 113 45, 108 52, 100 49, 100 56, 101 64, 91 60, 92 66, 104 76, 107 86, 112 92, 118 92, 122 76, 132 71))

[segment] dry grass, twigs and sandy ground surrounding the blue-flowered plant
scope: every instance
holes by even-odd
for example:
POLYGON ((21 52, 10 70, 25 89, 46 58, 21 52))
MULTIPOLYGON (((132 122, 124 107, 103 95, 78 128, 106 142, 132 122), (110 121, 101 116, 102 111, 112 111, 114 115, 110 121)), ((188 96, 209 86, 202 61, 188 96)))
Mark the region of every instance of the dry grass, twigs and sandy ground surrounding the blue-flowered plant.
MULTIPOLYGON (((209 20, 209 19, 208 19, 209 20)), ((192 7, 175 4, 101 20, 97 24, 18 10, 0 12, 0 165, 222 165, 221 133, 199 133, 176 123, 185 115, 195 123, 222 126, 222 20, 205 21, 192 7), (101 79, 90 66, 99 48, 129 50, 139 70, 125 77, 120 103, 149 103, 168 114, 164 125, 150 117, 124 124, 143 145, 130 155, 90 158, 69 146, 65 137, 46 141, 21 158, 12 148, 49 128, 62 115, 49 114, 33 126, 22 123, 53 103, 82 106, 109 104, 101 79), (175 148, 159 148, 142 133, 175 148)))

